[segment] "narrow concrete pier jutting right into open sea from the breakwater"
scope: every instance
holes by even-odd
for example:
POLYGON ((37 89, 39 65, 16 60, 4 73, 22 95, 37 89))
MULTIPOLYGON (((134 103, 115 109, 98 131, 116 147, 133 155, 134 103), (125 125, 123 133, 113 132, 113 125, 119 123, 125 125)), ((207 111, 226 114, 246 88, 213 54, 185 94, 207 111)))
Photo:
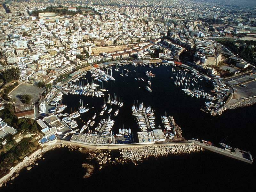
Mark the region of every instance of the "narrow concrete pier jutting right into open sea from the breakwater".
POLYGON ((218 147, 215 147, 212 145, 207 145, 207 144, 201 143, 196 140, 188 140, 188 141, 193 141, 197 146, 207 149, 209 151, 219 153, 221 155, 225 155, 225 156, 228 156, 228 157, 231 157, 231 158, 234 158, 234 159, 237 159, 237 160, 249 163, 249 164, 253 163, 252 155, 248 154, 247 152, 245 153, 245 151, 242 151, 240 149, 235 148, 235 151, 232 152, 232 151, 228 151, 228 150, 218 148, 218 147))

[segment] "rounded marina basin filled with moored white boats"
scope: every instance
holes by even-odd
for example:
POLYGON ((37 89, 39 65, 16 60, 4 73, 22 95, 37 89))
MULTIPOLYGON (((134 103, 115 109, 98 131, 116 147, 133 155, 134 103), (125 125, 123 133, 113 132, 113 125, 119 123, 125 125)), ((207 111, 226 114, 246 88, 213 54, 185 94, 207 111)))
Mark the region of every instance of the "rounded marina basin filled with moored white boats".
POLYGON ((51 90, 55 94, 49 96, 49 104, 54 106, 51 114, 58 116, 60 122, 69 128, 68 132, 59 131, 57 137, 81 147, 110 150, 188 142, 182 135, 181 126, 166 113, 177 112, 168 105, 163 106, 160 101, 167 101, 176 89, 180 90, 180 97, 194 95, 196 100, 190 98, 194 102, 191 106, 206 104, 210 109, 223 99, 228 89, 225 86, 209 87, 204 76, 185 69, 175 63, 117 64, 115 61, 76 74, 66 84, 55 85, 51 90), (159 80, 162 75, 159 70, 163 68, 166 70, 164 76, 168 76, 164 81, 159 80), (180 72, 180 86, 172 83, 177 76, 175 70, 178 74, 180 72), (132 86, 124 86, 128 82, 132 86), (161 83, 164 86, 159 86, 161 83), (150 87, 151 91, 145 87, 150 87), (152 94, 163 90, 167 90, 168 96, 162 94, 162 98, 159 95, 161 99, 151 99, 152 94))

